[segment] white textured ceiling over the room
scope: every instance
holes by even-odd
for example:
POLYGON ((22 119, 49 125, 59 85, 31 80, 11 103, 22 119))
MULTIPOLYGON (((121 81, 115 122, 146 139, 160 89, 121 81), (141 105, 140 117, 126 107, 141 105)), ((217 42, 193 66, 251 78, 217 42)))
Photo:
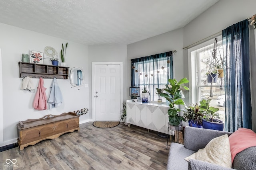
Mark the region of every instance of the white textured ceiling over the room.
POLYGON ((0 22, 86 45, 127 45, 184 27, 218 0, 0 0, 0 22))

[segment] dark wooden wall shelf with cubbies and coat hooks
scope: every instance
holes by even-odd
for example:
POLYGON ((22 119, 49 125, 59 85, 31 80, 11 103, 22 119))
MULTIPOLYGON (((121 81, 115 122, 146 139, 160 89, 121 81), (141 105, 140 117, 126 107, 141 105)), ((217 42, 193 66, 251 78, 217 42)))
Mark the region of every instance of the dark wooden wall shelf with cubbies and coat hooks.
POLYGON ((68 79, 68 67, 45 64, 18 62, 20 66, 20 78, 57 78, 68 79))

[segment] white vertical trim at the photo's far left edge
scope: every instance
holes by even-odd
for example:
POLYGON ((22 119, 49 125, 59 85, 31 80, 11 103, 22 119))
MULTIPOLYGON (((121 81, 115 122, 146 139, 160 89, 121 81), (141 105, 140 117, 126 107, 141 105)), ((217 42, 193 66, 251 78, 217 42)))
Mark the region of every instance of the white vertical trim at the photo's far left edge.
POLYGON ((0 145, 4 142, 2 52, 0 49, 0 145))

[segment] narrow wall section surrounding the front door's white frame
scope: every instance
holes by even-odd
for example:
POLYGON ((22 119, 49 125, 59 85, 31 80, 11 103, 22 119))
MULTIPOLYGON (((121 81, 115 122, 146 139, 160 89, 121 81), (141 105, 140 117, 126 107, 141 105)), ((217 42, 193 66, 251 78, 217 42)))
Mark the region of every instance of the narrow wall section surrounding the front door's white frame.
MULTIPOLYGON (((130 82, 130 76, 126 71, 127 68, 127 48, 126 45, 95 45, 88 47, 88 74, 89 74, 89 96, 92 96, 92 62, 123 62, 123 97, 126 101, 129 96, 126 85, 130 82)), ((90 100, 90 106, 92 101, 90 100)), ((91 108, 93 109, 93 108, 91 108)), ((90 115, 92 119, 92 115, 90 115)))

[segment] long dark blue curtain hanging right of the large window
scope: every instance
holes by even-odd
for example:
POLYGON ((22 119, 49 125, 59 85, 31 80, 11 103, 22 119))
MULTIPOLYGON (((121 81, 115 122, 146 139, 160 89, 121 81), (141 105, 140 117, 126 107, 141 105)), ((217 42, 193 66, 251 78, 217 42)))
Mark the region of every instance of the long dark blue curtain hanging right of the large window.
POLYGON ((248 20, 222 31, 225 69, 225 131, 252 129, 248 20))

